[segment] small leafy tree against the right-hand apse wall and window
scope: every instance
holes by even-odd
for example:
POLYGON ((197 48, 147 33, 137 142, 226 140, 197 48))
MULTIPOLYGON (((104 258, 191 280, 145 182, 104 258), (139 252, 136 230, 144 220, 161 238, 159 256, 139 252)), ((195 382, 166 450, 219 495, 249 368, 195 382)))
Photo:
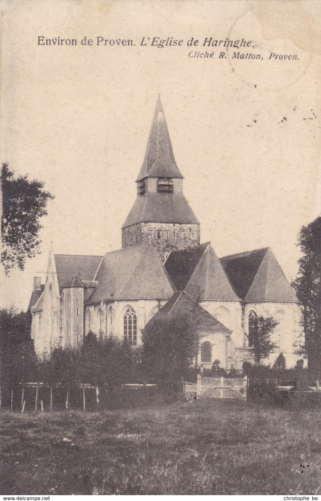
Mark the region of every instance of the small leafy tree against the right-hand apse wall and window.
POLYGON ((255 317, 253 319, 253 346, 249 355, 254 360, 255 366, 259 366, 261 360, 268 358, 277 348, 277 345, 271 341, 271 334, 277 325, 278 322, 273 317, 255 317))

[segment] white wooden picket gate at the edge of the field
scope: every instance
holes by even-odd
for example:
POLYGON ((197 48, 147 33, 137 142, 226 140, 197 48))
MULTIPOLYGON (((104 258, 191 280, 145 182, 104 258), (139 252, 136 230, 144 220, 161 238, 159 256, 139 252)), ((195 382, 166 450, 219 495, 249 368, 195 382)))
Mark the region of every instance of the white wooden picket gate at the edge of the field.
POLYGON ((184 382, 184 396, 188 400, 200 397, 239 398, 246 400, 247 376, 245 377, 201 377, 197 383, 184 382))

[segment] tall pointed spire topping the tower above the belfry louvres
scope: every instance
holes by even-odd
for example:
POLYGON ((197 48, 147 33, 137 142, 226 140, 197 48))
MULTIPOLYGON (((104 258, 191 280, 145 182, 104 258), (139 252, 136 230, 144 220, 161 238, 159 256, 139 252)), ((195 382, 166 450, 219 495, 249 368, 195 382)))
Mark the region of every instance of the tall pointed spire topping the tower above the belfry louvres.
POLYGON ((144 161, 136 181, 140 181, 145 177, 178 177, 181 179, 183 177, 174 159, 159 96, 149 132, 144 161))

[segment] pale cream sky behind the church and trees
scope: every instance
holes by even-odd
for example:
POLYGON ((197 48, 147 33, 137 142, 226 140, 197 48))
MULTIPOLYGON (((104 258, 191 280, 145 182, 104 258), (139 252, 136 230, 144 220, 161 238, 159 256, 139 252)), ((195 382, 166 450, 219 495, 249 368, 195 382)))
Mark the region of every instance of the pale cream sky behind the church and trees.
POLYGON ((1 270, 0 306, 27 308, 50 242, 56 254, 121 247, 158 93, 201 242, 218 257, 270 246, 293 280, 298 232, 321 210, 319 7, 4 0, 1 162, 44 181, 54 200, 41 219, 41 254, 23 272, 1 270), (38 45, 39 36, 77 45, 38 45), (96 37, 133 45, 97 46, 96 37), (158 48, 153 37, 183 43, 158 48), (198 45, 188 47, 192 37, 198 45), (205 38, 251 44, 204 48, 205 38), (206 50, 212 58, 193 57, 206 50))

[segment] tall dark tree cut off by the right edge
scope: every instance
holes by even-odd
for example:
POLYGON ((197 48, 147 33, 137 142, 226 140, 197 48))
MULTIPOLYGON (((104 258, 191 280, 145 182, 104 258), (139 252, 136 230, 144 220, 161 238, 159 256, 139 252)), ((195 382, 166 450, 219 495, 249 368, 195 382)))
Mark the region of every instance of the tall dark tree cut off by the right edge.
POLYGON ((304 345, 298 354, 307 358, 311 370, 321 369, 321 216, 300 230, 297 245, 303 256, 298 260, 299 271, 292 282, 302 303, 304 345))

